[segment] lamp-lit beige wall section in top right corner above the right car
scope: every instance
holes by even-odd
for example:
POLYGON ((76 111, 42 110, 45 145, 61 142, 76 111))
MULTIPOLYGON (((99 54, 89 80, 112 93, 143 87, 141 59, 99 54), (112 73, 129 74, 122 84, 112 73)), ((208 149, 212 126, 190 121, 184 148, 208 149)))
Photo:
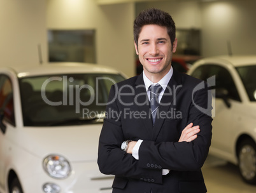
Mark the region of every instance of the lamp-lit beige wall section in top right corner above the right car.
POLYGON ((203 56, 256 54, 256 1, 232 0, 201 3, 203 56))

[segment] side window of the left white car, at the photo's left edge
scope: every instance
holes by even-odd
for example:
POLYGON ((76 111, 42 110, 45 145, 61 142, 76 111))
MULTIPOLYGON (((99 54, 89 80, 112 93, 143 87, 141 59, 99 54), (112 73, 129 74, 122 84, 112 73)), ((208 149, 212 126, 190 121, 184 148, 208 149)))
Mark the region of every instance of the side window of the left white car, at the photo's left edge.
POLYGON ((13 104, 11 80, 6 75, 0 75, 0 110, 4 112, 4 119, 15 126, 13 104))

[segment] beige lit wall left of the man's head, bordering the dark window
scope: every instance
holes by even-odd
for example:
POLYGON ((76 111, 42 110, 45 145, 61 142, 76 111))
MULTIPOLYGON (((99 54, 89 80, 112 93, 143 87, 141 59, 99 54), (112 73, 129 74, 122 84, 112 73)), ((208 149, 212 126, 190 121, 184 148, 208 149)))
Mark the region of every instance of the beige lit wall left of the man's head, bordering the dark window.
POLYGON ((133 3, 47 0, 46 8, 47 29, 96 30, 96 62, 134 75, 133 3))

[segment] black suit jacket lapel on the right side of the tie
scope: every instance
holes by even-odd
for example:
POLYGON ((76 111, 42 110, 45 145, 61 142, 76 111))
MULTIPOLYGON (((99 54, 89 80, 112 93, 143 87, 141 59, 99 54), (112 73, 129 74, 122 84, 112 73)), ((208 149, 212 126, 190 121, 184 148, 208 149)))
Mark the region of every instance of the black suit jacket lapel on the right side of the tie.
MULTIPOLYGON (((173 70, 173 76, 171 77, 166 90, 164 91, 164 95, 160 101, 159 105, 159 113, 167 112, 174 100, 176 100, 176 96, 178 92, 181 90, 181 76, 180 72, 173 70)), ((157 139, 157 136, 162 128, 162 124, 164 123, 165 118, 161 118, 161 116, 157 116, 155 119, 155 125, 153 126, 153 140, 157 139)))

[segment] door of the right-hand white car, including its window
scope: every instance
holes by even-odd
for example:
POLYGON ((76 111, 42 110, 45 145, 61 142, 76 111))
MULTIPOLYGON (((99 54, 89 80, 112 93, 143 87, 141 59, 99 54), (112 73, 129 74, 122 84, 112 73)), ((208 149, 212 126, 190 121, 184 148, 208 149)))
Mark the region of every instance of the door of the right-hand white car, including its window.
POLYGON ((241 102, 238 90, 231 73, 224 65, 208 63, 199 66, 192 76, 207 81, 209 77, 215 76, 216 94, 226 92, 224 98, 215 98, 215 117, 213 117, 213 138, 211 140, 211 152, 231 156, 232 152, 232 128, 234 128, 234 112, 238 110, 241 102))

